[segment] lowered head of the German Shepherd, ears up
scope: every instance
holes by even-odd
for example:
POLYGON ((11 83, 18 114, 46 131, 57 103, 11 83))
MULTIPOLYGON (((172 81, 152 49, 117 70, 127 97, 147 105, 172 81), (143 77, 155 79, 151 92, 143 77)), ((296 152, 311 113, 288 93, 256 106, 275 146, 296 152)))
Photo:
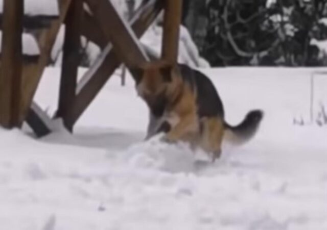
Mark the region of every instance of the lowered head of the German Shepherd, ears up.
POLYGON ((135 79, 137 94, 145 100, 154 116, 162 116, 174 82, 173 66, 158 62, 131 68, 130 71, 135 79))

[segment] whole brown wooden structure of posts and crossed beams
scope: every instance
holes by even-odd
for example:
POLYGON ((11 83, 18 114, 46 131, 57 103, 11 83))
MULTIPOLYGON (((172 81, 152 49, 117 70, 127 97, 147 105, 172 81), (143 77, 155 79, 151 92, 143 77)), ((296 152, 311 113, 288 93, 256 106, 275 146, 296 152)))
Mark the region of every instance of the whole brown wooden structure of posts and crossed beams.
MULTIPOLYGON (((175 62, 178 50, 182 0, 144 0, 129 21, 125 21, 108 0, 58 1, 58 15, 26 15, 24 0, 4 2, 0 70, 0 125, 11 129, 27 121, 38 136, 51 132, 40 115, 33 96, 48 64, 60 25, 65 24, 59 104, 61 117, 70 131, 114 70, 124 63, 127 68, 149 62, 138 38, 164 10, 162 57, 175 62), (39 53, 26 55, 22 34, 33 32, 39 53), (101 58, 80 81, 80 36, 102 49, 101 58)), ((25 0, 28 2, 28 0, 25 0)), ((28 53, 28 52, 27 52, 28 53)))

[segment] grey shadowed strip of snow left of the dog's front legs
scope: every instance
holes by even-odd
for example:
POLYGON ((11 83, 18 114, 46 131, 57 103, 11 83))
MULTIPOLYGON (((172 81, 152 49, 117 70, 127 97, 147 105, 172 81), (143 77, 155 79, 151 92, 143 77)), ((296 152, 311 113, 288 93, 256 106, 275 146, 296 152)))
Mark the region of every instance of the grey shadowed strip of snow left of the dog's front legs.
POLYGON ((112 129, 94 127, 92 129, 77 129, 74 134, 53 133, 41 140, 52 144, 73 145, 79 147, 122 150, 140 142, 145 134, 141 132, 123 132, 112 129))

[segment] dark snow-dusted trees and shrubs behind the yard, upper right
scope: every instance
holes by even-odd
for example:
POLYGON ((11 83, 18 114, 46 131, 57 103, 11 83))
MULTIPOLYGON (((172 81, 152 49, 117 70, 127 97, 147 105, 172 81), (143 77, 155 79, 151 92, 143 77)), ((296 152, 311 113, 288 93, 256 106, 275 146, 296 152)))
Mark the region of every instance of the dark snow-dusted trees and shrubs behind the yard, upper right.
POLYGON ((182 23, 212 66, 327 65, 326 0, 184 0, 182 23))

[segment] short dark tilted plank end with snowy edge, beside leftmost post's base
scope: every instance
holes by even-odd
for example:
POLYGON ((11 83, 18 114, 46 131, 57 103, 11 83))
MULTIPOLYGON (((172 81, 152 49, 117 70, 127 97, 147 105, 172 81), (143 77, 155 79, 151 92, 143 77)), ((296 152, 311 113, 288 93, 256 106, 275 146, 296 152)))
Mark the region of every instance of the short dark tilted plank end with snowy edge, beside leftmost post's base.
POLYGON ((51 133, 51 129, 48 127, 48 122, 50 121, 50 117, 36 103, 32 103, 26 117, 26 122, 37 137, 43 137, 51 133))

